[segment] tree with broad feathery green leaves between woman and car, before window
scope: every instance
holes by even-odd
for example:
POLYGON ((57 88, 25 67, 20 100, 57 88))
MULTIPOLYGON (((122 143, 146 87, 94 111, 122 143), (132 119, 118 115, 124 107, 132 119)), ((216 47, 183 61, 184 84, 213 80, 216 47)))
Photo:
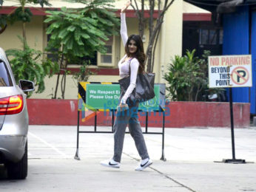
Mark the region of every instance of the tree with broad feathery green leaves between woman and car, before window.
MULTIPOLYGON (((47 28, 47 34, 51 34, 47 49, 56 50, 55 55, 58 55, 60 68, 64 72, 61 79, 63 99, 67 65, 82 60, 84 56, 92 57, 95 51, 105 53, 104 41, 108 40, 108 36, 118 34, 119 21, 113 10, 110 10, 110 1, 79 2, 86 4, 86 7, 78 10, 62 7, 60 11, 47 11, 44 21, 50 24, 47 28)), ((57 97, 60 75, 58 73, 53 98, 57 97)))

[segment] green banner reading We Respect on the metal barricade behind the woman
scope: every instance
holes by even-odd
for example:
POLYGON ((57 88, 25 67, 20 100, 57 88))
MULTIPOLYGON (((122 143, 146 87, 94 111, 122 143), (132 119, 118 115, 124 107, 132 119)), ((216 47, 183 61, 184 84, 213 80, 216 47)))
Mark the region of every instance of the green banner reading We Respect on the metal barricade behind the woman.
MULTIPOLYGON (((121 94, 119 84, 87 84, 86 103, 92 109, 116 109, 121 94)), ((155 97, 140 103, 139 110, 157 111, 160 103, 160 86, 155 85, 155 97)))

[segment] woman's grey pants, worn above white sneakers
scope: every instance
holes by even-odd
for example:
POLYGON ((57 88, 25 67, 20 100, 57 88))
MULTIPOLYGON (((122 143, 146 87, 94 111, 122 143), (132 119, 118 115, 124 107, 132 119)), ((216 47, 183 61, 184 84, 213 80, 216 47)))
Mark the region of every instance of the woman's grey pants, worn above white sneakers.
POLYGON ((135 141, 138 154, 141 159, 149 158, 146 150, 146 143, 141 130, 141 124, 138 121, 138 102, 129 103, 129 110, 124 112, 117 112, 114 123, 114 157, 116 162, 121 161, 121 154, 124 145, 124 134, 129 125, 129 133, 135 141))

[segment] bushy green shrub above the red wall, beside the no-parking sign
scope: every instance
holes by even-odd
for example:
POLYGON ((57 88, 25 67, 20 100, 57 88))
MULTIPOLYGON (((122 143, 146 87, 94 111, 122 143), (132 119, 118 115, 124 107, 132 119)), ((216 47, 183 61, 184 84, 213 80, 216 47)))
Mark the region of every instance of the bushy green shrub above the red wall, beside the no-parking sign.
POLYGON ((209 89, 208 56, 204 51, 202 58, 195 57, 195 49, 186 51, 183 57, 175 55, 164 79, 169 83, 166 88, 168 97, 178 101, 207 100, 207 95, 219 94, 224 89, 209 89))

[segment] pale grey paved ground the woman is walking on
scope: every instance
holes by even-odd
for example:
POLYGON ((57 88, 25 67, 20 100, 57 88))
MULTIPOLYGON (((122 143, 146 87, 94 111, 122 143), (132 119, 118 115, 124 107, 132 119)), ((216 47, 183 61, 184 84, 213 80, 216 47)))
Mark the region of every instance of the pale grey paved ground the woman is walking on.
MULTIPOLYGON (((30 126, 27 179, 8 180, 0 166, 0 191, 256 191, 255 163, 213 162, 232 157, 229 128, 166 129, 166 162, 159 160, 161 135, 144 137, 154 163, 137 172, 139 157, 129 134, 121 168, 113 169, 99 165, 112 157, 112 134, 81 134, 78 161, 74 126, 30 126)), ((256 162, 255 138, 256 128, 235 129, 237 159, 256 162)))

